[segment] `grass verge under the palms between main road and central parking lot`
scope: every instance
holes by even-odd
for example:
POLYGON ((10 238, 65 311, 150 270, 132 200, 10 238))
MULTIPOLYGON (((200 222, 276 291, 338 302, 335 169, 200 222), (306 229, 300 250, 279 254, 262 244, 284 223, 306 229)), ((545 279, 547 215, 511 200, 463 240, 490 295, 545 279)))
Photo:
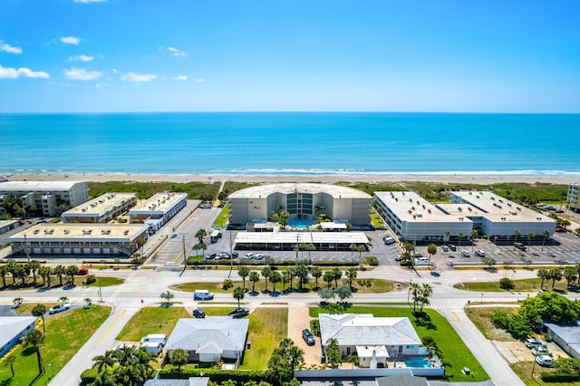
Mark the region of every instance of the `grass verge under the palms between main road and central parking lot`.
MULTIPOLYGON (((383 280, 383 279, 365 279, 364 281, 364 285, 359 285, 357 283, 357 280, 353 281, 353 293, 359 293, 359 294, 380 294, 380 293, 384 293, 384 292, 389 292, 392 291, 395 288, 395 285, 397 285, 394 282, 391 282, 389 280, 383 280), (366 284, 370 283, 370 286, 367 286, 366 284)), ((340 281, 339 281, 339 285, 340 285, 340 281)), ((240 280, 240 281, 234 281, 234 286, 228 290, 223 289, 223 282, 221 283, 197 283, 197 282, 193 282, 193 283, 182 283, 179 285, 171 285, 169 287, 169 289, 173 289, 176 291, 183 291, 183 292, 194 292, 195 290, 198 289, 207 289, 211 292, 214 293, 219 293, 219 294, 233 294, 234 293, 234 288, 236 288, 237 286, 244 286, 244 283, 240 280)), ((319 288, 315 288, 315 282, 314 280, 310 280, 310 284, 309 285, 305 285, 304 289, 302 292, 304 293, 308 293, 308 292, 312 292, 312 291, 318 291, 319 288)), ((320 279, 318 280, 318 286, 321 288, 325 288, 326 287, 326 283, 320 279)), ((289 288, 290 285, 286 284, 284 286, 285 291, 286 292, 299 292, 298 290, 298 285, 296 284, 296 280, 294 280, 293 282, 293 286, 292 289, 289 288)), ((252 290, 252 282, 248 281, 246 279, 246 288, 247 288, 247 292, 251 292, 252 290)), ((268 283, 268 291, 271 292, 273 290, 273 285, 271 283, 268 283)), ((283 285, 282 283, 277 283, 275 285, 275 290, 276 292, 282 292, 282 288, 283 285)), ((331 288, 334 288, 334 283, 331 285, 331 288)), ((266 291, 266 283, 264 278, 261 278, 259 282, 256 282, 256 286, 254 288, 254 290, 256 292, 259 293, 263 293, 266 291)), ((233 296, 232 296, 233 299, 233 296)))

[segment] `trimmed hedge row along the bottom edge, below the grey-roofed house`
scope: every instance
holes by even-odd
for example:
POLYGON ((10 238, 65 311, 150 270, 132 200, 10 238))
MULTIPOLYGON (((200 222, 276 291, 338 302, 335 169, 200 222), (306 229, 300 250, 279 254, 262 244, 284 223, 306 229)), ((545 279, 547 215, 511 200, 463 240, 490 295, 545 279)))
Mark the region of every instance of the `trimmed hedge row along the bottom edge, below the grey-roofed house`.
POLYGON ((221 383, 223 381, 232 380, 237 383, 246 383, 247 381, 268 381, 267 372, 263 370, 219 370, 219 369, 198 369, 193 367, 186 367, 181 370, 175 367, 169 367, 160 371, 161 379, 177 379, 187 380, 189 377, 200 377, 203 373, 204 377, 209 377, 210 381, 221 383))

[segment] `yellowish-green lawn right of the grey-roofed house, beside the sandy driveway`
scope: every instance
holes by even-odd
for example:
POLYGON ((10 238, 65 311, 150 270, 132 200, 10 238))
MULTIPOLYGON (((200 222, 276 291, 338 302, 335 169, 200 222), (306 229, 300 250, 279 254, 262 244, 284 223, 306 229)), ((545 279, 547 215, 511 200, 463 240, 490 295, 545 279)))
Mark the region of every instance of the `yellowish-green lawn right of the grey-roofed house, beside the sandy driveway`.
POLYGON ((240 369, 264 370, 275 347, 288 335, 288 309, 257 308, 248 318, 247 341, 252 348, 244 353, 240 369))

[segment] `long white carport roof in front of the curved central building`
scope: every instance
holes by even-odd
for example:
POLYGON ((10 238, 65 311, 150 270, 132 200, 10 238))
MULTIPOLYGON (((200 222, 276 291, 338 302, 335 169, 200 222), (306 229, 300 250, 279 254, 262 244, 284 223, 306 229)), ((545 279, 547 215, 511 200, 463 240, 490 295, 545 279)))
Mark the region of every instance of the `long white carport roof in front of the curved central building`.
POLYGON ((238 232, 234 243, 367 244, 364 232, 238 232))

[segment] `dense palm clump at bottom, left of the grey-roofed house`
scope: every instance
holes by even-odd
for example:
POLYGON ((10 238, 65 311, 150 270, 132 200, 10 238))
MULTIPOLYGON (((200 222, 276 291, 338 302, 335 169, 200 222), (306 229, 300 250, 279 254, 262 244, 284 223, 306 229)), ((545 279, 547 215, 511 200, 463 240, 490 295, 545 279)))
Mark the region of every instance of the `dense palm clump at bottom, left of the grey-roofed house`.
POLYGON ((99 375, 92 386, 142 385, 153 367, 153 355, 144 349, 124 346, 121 350, 110 350, 92 358, 99 375))

